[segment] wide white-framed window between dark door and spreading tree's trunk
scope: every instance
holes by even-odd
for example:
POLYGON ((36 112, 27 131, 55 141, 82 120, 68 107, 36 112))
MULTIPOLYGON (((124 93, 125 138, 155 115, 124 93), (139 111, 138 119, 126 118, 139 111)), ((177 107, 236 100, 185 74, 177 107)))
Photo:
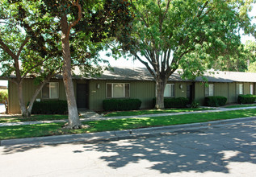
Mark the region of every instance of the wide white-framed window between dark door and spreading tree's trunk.
POLYGON ((130 84, 107 84, 107 97, 130 97, 130 84))

